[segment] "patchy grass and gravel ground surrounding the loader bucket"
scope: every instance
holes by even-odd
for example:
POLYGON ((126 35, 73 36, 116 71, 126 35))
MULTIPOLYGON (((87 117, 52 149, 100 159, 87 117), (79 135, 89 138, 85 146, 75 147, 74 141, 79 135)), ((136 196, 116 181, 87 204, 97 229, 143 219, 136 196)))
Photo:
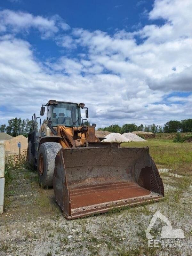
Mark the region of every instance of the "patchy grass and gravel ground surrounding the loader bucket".
MULTIPOLYGON (((192 236, 192 143, 151 139, 122 147, 149 147, 164 182, 163 201, 66 220, 52 189, 38 185, 34 170, 16 159, 6 165, 5 212, 0 216, 1 256, 111 255, 190 256, 192 236), (148 248, 147 229, 159 210, 182 228, 184 248, 148 248)), ((151 234, 160 236, 156 221, 151 234)), ((156 239, 157 239, 156 238, 156 239)))

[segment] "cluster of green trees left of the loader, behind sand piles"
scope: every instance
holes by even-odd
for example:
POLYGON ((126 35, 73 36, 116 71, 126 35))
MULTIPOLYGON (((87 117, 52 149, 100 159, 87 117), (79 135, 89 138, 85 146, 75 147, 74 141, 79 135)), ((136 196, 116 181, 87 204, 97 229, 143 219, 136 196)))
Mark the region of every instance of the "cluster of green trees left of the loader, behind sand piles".
POLYGON ((6 132, 13 137, 16 137, 18 135, 28 137, 28 133, 31 129, 31 123, 32 121, 28 118, 22 120, 21 118, 15 117, 8 121, 8 125, 1 124, 0 132, 6 132))

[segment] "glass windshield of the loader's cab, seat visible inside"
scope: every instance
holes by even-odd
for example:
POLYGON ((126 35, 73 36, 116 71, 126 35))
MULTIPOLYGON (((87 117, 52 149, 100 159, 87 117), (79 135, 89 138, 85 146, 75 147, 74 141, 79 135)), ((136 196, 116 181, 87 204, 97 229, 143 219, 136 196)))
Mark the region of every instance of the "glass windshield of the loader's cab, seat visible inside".
POLYGON ((81 112, 77 104, 58 102, 57 105, 52 105, 51 108, 52 126, 65 125, 81 126, 81 112))

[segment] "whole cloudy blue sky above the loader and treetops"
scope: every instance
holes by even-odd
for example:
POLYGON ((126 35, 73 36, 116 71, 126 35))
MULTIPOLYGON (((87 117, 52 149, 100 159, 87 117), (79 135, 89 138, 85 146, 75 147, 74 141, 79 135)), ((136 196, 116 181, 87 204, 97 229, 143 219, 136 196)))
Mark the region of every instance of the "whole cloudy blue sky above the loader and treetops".
POLYGON ((0 125, 50 99, 85 103, 98 127, 191 118, 191 12, 191 0, 2 0, 0 125))

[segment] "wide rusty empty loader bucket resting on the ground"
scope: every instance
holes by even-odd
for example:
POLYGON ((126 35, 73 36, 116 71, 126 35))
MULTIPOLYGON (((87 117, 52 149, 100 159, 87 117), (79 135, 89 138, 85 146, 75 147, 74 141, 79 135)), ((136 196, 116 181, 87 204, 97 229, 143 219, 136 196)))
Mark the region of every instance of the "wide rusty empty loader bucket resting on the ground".
POLYGON ((62 148, 58 152, 53 188, 67 219, 164 197, 163 182, 149 148, 118 148, 113 144, 62 148))

